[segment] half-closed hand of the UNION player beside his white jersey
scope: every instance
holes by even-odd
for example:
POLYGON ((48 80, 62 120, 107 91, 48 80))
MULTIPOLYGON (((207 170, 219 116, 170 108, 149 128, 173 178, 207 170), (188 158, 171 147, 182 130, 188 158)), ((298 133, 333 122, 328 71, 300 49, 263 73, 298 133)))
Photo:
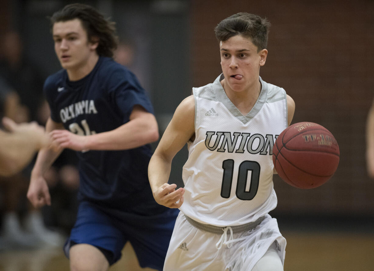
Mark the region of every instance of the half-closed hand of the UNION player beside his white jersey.
POLYGON ((155 201, 163 206, 169 208, 179 208, 183 204, 184 188, 180 187, 177 190, 176 184, 164 183, 154 193, 155 201))

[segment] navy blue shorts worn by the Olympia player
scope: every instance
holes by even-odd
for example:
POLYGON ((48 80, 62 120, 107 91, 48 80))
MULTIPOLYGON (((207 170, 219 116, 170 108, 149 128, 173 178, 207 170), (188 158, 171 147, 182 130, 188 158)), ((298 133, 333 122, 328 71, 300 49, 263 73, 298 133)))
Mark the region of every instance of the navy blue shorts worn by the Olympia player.
POLYGON ((162 270, 178 213, 178 209, 167 209, 161 214, 144 216, 101 210, 83 201, 65 243, 65 255, 69 258, 69 249, 74 244, 91 244, 101 250, 112 265, 121 258, 123 247, 130 241, 141 267, 162 270))

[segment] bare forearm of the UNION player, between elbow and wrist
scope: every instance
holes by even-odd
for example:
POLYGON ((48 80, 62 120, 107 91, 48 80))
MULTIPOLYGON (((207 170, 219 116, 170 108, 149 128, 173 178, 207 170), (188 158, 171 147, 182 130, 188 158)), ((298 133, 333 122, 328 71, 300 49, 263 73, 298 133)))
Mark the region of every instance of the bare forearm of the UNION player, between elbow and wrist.
POLYGON ((164 183, 168 183, 171 172, 171 161, 154 153, 148 164, 148 179, 154 193, 164 183))

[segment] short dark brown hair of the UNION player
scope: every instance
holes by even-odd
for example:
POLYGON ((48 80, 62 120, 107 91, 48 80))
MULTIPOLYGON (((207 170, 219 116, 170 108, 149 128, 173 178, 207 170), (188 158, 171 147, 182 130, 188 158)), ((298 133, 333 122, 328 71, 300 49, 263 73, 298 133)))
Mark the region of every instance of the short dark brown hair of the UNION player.
POLYGON ((257 46, 257 51, 265 49, 269 34, 270 22, 258 15, 239 12, 223 19, 214 29, 218 41, 228 40, 230 37, 242 35, 249 37, 257 46))

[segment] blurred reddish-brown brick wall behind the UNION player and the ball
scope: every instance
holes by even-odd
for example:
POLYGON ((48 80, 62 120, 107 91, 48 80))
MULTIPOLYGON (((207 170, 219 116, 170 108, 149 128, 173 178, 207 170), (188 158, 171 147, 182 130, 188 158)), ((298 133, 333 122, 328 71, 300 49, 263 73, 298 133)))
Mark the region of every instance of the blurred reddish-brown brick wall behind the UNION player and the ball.
POLYGON ((365 168, 365 121, 374 98, 374 1, 191 1, 191 74, 195 87, 221 72, 214 27, 245 11, 272 23, 261 77, 295 100, 292 123, 325 126, 340 164, 321 187, 300 190, 274 178, 277 213, 373 215, 374 180, 365 168))

